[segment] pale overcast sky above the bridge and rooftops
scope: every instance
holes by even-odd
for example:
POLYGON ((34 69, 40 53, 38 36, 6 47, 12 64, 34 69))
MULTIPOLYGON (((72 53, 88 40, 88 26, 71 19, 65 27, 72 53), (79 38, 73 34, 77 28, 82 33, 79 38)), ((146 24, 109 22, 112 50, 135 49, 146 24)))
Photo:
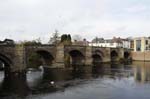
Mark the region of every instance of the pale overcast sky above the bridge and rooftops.
POLYGON ((0 40, 150 36, 150 0, 0 0, 0 40))

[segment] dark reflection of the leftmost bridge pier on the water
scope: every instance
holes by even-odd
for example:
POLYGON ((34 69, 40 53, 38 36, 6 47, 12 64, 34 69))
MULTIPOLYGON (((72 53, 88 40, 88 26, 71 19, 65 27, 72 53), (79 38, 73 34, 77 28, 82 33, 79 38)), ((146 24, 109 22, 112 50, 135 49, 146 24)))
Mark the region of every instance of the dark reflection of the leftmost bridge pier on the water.
POLYGON ((29 88, 26 82, 24 73, 11 74, 9 77, 4 77, 0 86, 0 96, 19 96, 25 97, 29 93, 29 88))

